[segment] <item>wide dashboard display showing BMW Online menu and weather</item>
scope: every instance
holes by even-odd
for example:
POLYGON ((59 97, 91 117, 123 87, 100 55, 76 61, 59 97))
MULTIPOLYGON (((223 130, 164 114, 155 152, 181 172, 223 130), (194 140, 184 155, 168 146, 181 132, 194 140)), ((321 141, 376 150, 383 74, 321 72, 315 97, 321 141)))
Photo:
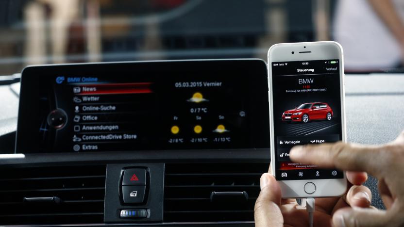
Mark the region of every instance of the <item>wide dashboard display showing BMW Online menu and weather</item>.
POLYGON ((261 60, 30 66, 17 152, 269 147, 261 60))

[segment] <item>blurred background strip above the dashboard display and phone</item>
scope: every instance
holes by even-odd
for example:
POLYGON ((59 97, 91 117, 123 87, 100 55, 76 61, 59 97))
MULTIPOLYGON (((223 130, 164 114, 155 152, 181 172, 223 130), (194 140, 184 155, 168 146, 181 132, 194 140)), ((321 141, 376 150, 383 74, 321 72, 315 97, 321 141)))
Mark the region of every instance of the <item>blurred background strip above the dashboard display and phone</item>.
POLYGON ((347 72, 403 72, 404 0, 0 0, 0 75, 26 65, 261 58, 335 40, 347 72))

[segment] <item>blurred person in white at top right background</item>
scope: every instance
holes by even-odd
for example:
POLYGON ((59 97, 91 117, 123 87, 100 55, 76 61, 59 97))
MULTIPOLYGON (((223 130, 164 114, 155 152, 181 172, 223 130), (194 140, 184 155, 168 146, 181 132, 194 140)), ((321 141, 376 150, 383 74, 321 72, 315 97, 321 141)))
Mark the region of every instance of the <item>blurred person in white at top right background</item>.
POLYGON ((346 70, 403 67, 404 1, 339 0, 333 34, 344 47, 346 70))

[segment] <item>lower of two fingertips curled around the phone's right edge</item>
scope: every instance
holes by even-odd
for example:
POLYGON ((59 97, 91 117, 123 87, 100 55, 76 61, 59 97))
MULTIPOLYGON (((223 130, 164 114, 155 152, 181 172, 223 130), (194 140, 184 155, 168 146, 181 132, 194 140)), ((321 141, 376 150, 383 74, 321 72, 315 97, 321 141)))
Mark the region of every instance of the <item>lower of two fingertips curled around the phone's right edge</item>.
POLYGON ((372 193, 370 189, 364 185, 352 186, 343 199, 351 205, 351 207, 368 208, 372 201, 372 193))

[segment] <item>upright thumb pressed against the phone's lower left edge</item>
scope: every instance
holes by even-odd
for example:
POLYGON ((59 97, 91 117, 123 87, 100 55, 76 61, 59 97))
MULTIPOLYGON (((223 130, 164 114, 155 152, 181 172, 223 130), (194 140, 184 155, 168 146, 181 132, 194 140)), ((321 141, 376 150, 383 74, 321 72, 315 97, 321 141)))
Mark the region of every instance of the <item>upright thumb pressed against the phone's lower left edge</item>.
POLYGON ((254 219, 256 227, 282 227, 284 218, 281 204, 281 188, 276 179, 265 173, 260 179, 261 192, 255 202, 254 219))

